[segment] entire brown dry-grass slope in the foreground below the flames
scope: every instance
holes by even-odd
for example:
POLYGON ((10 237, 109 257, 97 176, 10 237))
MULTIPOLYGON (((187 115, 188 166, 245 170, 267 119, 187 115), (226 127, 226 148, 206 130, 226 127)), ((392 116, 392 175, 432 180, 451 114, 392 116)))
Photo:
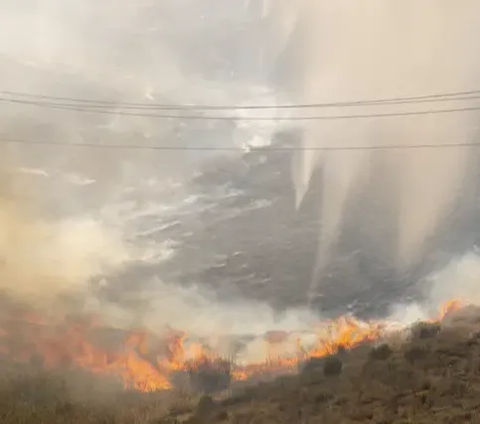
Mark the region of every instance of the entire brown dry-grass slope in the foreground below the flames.
POLYGON ((360 346, 334 359, 315 360, 298 376, 257 384, 222 400, 198 400, 186 392, 125 393, 97 383, 74 391, 78 384, 64 375, 5 378, 0 422, 480 423, 479 316, 475 311, 442 328, 419 327, 402 345, 360 346))

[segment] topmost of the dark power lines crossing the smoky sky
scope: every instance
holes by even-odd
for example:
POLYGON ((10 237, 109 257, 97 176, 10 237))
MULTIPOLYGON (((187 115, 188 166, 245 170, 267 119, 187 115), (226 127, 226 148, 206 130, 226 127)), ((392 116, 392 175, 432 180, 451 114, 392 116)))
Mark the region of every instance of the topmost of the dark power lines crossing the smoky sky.
MULTIPOLYGON (((35 100, 68 101, 65 106, 81 107, 115 107, 117 109, 146 109, 146 110, 248 110, 248 109, 312 109, 327 107, 352 107, 352 106, 376 106, 382 104, 405 104, 444 102, 458 100, 475 100, 480 97, 480 90, 457 91, 435 93, 420 96, 390 97, 370 100, 337 101, 330 103, 304 103, 304 104, 281 104, 281 105, 201 105, 201 104, 160 104, 160 103, 131 103, 116 102, 113 100, 94 100, 76 97, 49 96, 44 94, 29 94, 16 91, 0 91, 0 95, 21 97, 35 100)), ((46 102, 49 103, 49 102, 46 102)))

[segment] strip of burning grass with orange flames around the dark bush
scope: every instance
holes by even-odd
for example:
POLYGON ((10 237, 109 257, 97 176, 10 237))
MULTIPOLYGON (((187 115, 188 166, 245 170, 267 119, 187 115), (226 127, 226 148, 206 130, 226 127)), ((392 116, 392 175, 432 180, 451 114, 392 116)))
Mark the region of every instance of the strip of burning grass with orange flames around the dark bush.
POLYGON ((0 359, 41 370, 83 371, 117 381, 140 392, 170 390, 189 378, 194 391, 226 390, 232 382, 265 380, 295 374, 305 358, 323 357, 376 340, 383 323, 344 317, 315 329, 306 345, 298 335, 269 333, 260 340, 266 356, 256 363, 226 360, 202 340, 168 330, 163 336, 145 330, 119 330, 98 317, 40 314, 8 304, 0 317, 0 359), (285 355, 292 344, 296 351, 285 355))

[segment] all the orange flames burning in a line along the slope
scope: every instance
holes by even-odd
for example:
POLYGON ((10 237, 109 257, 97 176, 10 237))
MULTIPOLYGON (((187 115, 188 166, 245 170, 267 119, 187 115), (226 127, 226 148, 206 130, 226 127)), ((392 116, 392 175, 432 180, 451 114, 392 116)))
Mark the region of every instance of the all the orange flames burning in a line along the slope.
MULTIPOLYGON (((459 300, 446 302, 436 321, 463 306, 459 300)), ((130 331, 120 342, 101 346, 95 342, 97 331, 105 330, 101 321, 66 324, 54 323, 38 314, 13 312, 4 317, 0 327, 0 355, 21 363, 37 363, 45 369, 79 368, 92 374, 121 380, 126 388, 142 392, 170 389, 175 372, 188 371, 192 364, 219 360, 219 356, 199 342, 186 343, 188 335, 171 330, 164 340, 144 330, 130 331)), ((115 330, 106 329, 113 332, 115 330)), ((259 363, 236 365, 233 380, 294 373, 299 362, 311 357, 334 354, 340 349, 380 338, 388 331, 385 323, 365 323, 342 317, 319 326, 312 345, 296 338, 296 354, 282 356, 291 334, 272 332, 264 337, 266 357, 259 363)))

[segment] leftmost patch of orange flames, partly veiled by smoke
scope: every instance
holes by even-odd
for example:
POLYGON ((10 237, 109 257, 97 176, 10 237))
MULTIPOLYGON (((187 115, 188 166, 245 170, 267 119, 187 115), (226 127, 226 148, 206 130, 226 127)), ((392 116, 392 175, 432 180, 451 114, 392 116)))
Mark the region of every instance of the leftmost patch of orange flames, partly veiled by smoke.
POLYGON ((45 369, 75 367, 92 374, 120 378, 124 385, 140 391, 169 389, 170 383, 148 359, 146 334, 133 332, 121 349, 111 351, 89 341, 92 323, 59 327, 45 322, 16 319, 0 330, 0 352, 18 362, 41 362, 45 369))

